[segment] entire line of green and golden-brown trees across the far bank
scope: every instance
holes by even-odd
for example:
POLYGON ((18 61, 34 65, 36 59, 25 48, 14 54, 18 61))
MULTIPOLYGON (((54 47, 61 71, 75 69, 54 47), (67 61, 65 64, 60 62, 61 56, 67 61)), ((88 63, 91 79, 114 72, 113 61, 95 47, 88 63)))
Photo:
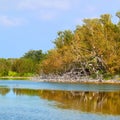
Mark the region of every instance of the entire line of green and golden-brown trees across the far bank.
POLYGON ((0 75, 56 74, 80 70, 83 75, 120 74, 120 12, 84 19, 74 31, 58 32, 55 48, 46 54, 28 51, 19 59, 0 59, 0 75))

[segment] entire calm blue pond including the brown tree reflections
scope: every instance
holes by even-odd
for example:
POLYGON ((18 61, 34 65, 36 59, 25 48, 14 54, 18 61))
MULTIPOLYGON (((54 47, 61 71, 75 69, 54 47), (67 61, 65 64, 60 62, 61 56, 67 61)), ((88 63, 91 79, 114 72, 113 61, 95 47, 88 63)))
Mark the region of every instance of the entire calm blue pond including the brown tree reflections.
POLYGON ((120 85, 0 80, 0 120, 120 120, 120 85))

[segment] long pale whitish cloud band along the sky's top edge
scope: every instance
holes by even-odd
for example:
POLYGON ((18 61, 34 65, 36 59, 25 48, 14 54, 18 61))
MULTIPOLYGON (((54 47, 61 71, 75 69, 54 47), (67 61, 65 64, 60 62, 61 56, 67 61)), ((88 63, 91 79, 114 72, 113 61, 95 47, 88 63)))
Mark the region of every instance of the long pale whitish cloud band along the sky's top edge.
POLYGON ((58 9, 68 10, 73 0, 21 0, 18 7, 21 9, 58 9))

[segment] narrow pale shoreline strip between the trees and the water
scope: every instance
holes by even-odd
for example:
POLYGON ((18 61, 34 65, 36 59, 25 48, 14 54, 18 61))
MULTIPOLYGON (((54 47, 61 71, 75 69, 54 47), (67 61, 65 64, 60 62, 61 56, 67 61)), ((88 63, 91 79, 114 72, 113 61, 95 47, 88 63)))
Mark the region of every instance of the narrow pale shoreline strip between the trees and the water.
POLYGON ((65 78, 40 78, 40 77, 9 77, 4 76, 0 77, 4 80, 30 80, 34 82, 50 82, 50 83, 75 83, 75 84, 120 84, 119 79, 110 79, 110 80, 99 80, 91 79, 89 77, 83 77, 80 79, 65 79, 65 78))

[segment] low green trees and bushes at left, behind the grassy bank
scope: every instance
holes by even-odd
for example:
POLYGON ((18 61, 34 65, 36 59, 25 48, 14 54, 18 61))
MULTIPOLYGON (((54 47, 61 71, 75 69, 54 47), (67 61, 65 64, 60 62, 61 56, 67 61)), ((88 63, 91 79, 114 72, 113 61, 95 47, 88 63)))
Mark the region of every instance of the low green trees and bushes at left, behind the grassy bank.
POLYGON ((46 54, 42 50, 30 50, 21 58, 0 59, 0 76, 33 76, 39 74, 39 63, 46 54))

